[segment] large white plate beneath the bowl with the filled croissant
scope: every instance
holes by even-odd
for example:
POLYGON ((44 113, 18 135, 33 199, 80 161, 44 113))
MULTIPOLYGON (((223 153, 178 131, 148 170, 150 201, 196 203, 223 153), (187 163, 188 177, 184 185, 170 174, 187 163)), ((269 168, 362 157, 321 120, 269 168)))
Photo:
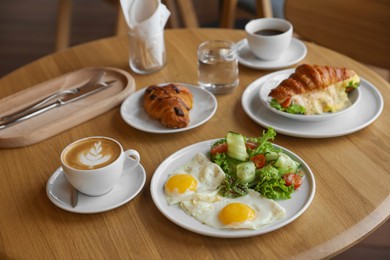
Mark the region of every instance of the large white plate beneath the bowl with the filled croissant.
POLYGON ((281 134, 305 138, 347 135, 374 122, 383 110, 383 98, 380 92, 370 82, 361 78, 360 99, 353 109, 327 121, 297 122, 271 112, 260 100, 258 93, 261 86, 274 75, 274 73, 270 73, 252 82, 245 89, 241 97, 241 104, 245 113, 253 121, 263 127, 271 126, 281 134))

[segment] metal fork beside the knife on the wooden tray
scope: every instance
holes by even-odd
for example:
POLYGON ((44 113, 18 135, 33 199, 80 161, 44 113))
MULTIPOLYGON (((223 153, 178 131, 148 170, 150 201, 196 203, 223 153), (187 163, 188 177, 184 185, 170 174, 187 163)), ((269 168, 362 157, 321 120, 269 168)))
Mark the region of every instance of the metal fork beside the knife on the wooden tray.
MULTIPOLYGON (((79 88, 87 86, 87 85, 94 85, 94 84, 98 83, 104 77, 104 74, 105 74, 104 71, 99 71, 98 73, 94 74, 92 76, 92 78, 90 78, 85 84, 83 84, 79 88)), ((19 111, 16 111, 12 114, 3 116, 2 118, 0 118, 0 121, 11 121, 12 119, 21 117, 22 115, 25 115, 25 114, 28 114, 28 113, 34 111, 35 109, 43 106, 44 104, 48 103, 49 101, 51 101, 55 98, 62 97, 64 95, 75 94, 77 92, 78 92, 78 88, 59 90, 59 91, 49 95, 48 97, 38 101, 37 103, 32 104, 31 106, 25 107, 25 108, 23 108, 19 111)))

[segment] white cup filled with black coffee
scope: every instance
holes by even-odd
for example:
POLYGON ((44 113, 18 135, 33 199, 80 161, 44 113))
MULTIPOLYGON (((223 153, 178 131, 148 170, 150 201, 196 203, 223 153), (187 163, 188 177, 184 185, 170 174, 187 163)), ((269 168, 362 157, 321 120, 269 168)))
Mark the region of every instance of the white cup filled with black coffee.
POLYGON ((262 60, 277 60, 290 46, 293 26, 280 18, 260 18, 245 25, 249 49, 262 60))

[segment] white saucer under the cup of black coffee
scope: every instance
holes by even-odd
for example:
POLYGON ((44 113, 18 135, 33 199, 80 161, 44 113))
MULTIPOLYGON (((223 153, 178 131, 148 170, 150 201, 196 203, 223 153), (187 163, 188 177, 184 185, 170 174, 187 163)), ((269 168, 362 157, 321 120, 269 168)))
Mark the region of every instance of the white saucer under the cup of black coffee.
POLYGON ((256 58, 252 54, 248 46, 248 41, 243 39, 237 43, 238 62, 252 69, 274 70, 292 66, 305 58, 307 54, 306 45, 295 38, 292 38, 291 44, 288 47, 286 54, 280 59, 274 61, 266 61, 256 58))

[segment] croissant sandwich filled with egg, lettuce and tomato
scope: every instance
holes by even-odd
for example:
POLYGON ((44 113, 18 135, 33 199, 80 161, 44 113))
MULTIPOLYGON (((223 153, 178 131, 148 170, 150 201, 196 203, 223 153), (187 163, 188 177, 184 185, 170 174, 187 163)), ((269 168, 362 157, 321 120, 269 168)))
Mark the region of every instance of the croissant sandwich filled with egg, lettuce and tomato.
POLYGON ((271 106, 306 115, 337 112, 350 104, 348 92, 360 84, 350 69, 303 64, 272 89, 271 106))

